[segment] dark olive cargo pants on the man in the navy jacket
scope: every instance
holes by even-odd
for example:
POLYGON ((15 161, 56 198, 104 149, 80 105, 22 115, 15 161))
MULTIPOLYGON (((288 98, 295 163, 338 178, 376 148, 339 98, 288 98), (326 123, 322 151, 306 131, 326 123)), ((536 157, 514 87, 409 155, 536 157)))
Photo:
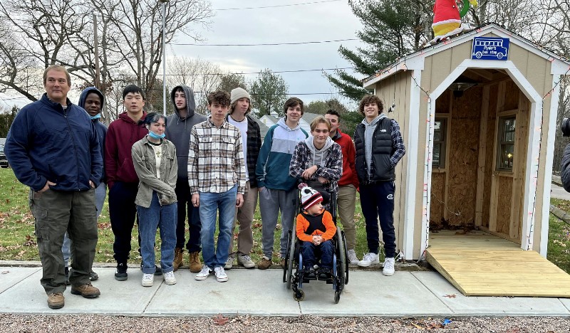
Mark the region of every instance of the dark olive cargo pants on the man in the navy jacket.
POLYGON ((36 237, 43 269, 41 285, 46 294, 66 290, 64 272, 63 236, 71 239, 71 271, 73 286, 90 283, 89 273, 95 259, 97 245, 97 208, 95 190, 53 191, 42 193, 30 190, 30 209, 36 218, 36 237))

